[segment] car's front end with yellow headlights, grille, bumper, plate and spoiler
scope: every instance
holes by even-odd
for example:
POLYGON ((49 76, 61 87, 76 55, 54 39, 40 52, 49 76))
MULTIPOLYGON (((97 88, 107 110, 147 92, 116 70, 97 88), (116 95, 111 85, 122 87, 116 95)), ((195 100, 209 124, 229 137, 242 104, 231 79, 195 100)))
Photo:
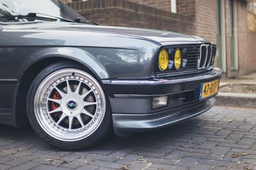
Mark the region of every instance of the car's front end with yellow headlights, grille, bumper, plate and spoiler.
POLYGON ((215 57, 213 44, 163 46, 152 78, 103 80, 115 133, 151 131, 211 109, 221 78, 221 69, 213 67, 215 57), (161 61, 161 52, 167 52, 167 61, 161 61), (160 62, 167 66, 162 69, 160 62))

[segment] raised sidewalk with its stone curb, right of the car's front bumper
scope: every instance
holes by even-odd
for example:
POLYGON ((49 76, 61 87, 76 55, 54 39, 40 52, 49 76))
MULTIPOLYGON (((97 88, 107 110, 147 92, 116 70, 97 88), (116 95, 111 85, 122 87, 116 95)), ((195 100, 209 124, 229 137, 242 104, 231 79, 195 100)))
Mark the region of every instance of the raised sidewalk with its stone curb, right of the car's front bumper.
POLYGON ((223 78, 216 105, 256 108, 256 73, 237 78, 223 78))

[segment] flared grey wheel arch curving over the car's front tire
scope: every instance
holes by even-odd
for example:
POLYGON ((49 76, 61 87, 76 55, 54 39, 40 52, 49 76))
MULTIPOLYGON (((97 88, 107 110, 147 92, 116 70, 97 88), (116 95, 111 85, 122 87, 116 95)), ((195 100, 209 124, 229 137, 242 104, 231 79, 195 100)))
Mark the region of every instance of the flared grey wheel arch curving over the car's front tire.
MULTIPOLYGON (((51 50, 43 50, 36 54, 38 55, 34 54, 28 58, 28 61, 26 62, 27 64, 23 67, 22 71, 20 71, 19 87, 17 89, 17 97, 14 104, 15 122, 17 127, 26 124, 28 120, 24 117, 26 117, 26 96, 31 83, 36 75, 50 64, 60 61, 73 62, 82 65, 84 70, 95 76, 97 80, 108 77, 108 73, 106 73, 104 67, 97 62, 95 57, 90 56, 89 53, 77 48, 54 48, 51 50), (61 51, 65 53, 60 53, 61 51), (40 53, 43 53, 44 55, 40 55, 40 53)), ((100 84, 102 85, 101 82, 100 84)))

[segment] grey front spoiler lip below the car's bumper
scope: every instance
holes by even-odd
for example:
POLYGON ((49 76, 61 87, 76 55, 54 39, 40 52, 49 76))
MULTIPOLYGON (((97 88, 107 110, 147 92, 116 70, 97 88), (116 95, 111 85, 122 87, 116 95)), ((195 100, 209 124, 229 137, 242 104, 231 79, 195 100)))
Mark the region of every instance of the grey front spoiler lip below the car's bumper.
POLYGON ((117 136, 127 136, 134 132, 152 131, 176 122, 196 117, 212 108, 215 99, 211 98, 203 103, 183 110, 167 110, 153 114, 113 114, 113 126, 117 136), (167 113, 167 114, 166 114, 167 113))

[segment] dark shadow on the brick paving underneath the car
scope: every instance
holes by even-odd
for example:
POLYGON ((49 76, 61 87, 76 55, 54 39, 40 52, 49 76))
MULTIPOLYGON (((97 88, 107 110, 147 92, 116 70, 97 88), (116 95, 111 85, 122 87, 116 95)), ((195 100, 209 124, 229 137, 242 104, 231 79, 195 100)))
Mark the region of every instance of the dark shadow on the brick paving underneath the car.
MULTIPOLYGON (((80 152, 95 152, 102 150, 118 150, 120 148, 127 150, 136 150, 138 148, 155 147, 159 148, 163 145, 168 145, 171 142, 188 141, 186 133, 193 134, 193 131, 200 130, 200 125, 204 120, 193 118, 185 122, 179 122, 163 129, 150 132, 140 132, 118 138, 114 133, 103 139, 97 145, 84 149, 80 152)), ((0 125, 0 150, 13 148, 26 148, 28 150, 44 150, 56 152, 65 151, 56 149, 40 139, 39 136, 33 132, 30 125, 25 127, 15 128, 8 125, 0 125)))

